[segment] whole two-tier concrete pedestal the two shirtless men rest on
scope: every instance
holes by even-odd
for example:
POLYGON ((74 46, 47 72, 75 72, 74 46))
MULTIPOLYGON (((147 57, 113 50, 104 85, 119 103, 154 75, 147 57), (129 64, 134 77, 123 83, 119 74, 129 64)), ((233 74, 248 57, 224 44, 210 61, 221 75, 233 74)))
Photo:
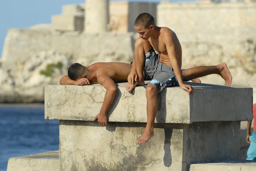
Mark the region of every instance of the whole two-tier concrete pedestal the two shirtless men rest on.
MULTIPOLYGON (((147 81, 148 82, 148 81, 147 81)), ((238 159, 240 122, 252 119, 252 88, 192 84, 158 95, 154 137, 137 139, 145 130, 146 86, 125 90, 117 84, 107 127, 93 117, 105 96, 100 84, 45 87, 45 119, 60 120, 60 171, 175 170, 218 159, 238 159)))

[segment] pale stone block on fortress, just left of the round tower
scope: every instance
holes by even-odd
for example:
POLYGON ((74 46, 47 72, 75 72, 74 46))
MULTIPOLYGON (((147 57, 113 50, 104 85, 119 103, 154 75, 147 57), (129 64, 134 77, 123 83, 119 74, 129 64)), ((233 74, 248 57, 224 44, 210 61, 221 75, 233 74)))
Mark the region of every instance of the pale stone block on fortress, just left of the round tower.
POLYGON ((52 28, 63 31, 84 31, 84 15, 52 15, 52 28))

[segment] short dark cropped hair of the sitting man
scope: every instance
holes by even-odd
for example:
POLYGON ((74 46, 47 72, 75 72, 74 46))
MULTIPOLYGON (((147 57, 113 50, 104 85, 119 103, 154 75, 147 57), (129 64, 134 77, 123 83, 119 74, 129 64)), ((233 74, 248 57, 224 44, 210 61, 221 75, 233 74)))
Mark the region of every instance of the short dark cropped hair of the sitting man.
POLYGON ((148 28, 150 25, 154 25, 154 17, 148 13, 140 14, 134 21, 134 26, 143 26, 148 28))

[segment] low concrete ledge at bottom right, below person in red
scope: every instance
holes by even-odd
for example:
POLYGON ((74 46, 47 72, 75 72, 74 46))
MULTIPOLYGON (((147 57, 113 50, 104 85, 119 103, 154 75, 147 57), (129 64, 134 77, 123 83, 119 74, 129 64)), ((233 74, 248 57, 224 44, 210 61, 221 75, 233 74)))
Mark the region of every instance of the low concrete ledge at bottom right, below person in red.
POLYGON ((256 171, 256 161, 227 160, 190 165, 189 171, 256 171))

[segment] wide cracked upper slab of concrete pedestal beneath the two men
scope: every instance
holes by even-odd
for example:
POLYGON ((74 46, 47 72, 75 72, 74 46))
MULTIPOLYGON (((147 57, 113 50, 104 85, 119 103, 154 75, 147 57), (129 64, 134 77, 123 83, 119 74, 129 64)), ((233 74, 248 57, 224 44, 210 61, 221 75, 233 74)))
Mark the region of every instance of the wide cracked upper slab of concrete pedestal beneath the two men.
MULTIPOLYGON (((145 87, 128 93, 118 84, 116 97, 109 109, 110 122, 146 122, 145 87), (124 110, 125 109, 125 110, 124 110)), ((252 88, 234 88, 211 84, 195 84, 189 96, 180 87, 171 87, 158 95, 155 122, 193 123, 208 121, 247 121, 252 119, 252 88)), ((89 86, 47 85, 45 87, 45 119, 93 121, 105 96, 100 84, 89 86)))

